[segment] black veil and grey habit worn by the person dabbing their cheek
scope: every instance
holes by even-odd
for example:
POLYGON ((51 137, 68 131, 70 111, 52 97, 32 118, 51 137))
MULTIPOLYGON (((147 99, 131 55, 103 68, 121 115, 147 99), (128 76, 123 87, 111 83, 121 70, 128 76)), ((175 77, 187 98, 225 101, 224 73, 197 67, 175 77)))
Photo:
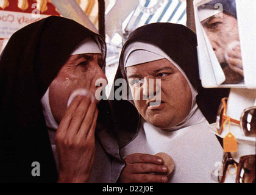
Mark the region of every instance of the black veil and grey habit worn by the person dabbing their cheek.
MULTIPOLYGON (((102 54, 103 38, 71 19, 50 16, 18 30, 0 59, 0 181, 57 182, 58 155, 49 85, 70 55, 102 54), (32 174, 40 163, 40 177, 32 174)), ((88 182, 116 182, 119 157, 108 101, 98 105, 96 154, 88 182)))

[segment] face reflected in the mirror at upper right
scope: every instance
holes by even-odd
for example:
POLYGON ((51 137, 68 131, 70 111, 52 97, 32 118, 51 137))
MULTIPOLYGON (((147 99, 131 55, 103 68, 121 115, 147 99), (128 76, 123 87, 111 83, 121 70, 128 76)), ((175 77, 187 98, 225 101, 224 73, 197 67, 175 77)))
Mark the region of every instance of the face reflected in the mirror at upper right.
POLYGON ((222 18, 217 18, 214 15, 205 19, 202 21, 202 26, 224 70, 225 83, 237 83, 243 80, 241 74, 236 73, 229 67, 225 57, 225 54, 229 51, 230 44, 233 41, 240 41, 237 19, 224 12, 222 18))

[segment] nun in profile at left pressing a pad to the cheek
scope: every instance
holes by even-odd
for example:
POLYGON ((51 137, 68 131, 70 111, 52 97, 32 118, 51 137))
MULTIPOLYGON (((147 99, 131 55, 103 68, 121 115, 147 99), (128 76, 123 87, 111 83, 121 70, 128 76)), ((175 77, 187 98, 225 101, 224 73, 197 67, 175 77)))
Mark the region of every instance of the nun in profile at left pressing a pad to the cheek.
POLYGON ((0 60, 1 182, 116 182, 119 156, 101 35, 50 16, 18 30, 0 60))

